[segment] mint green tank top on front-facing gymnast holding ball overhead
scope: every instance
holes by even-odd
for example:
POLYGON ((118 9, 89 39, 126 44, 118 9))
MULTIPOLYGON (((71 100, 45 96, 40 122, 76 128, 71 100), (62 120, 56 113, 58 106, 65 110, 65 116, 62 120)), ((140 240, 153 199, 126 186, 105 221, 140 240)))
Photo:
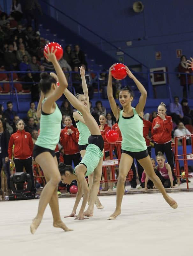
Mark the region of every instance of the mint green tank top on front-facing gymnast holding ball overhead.
POLYGON ((130 117, 122 116, 120 111, 118 126, 122 134, 121 148, 130 152, 140 152, 147 149, 143 136, 143 119, 133 108, 134 115, 130 117))

